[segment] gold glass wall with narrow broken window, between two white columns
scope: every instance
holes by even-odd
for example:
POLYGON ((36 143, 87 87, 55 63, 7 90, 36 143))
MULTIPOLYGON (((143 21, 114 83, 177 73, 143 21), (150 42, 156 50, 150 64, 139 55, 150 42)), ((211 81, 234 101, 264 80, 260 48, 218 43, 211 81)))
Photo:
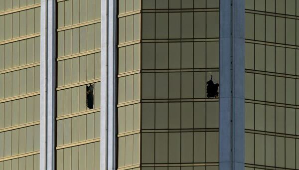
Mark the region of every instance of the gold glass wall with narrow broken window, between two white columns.
POLYGON ((100 170, 101 0, 56 5, 56 169, 100 170))

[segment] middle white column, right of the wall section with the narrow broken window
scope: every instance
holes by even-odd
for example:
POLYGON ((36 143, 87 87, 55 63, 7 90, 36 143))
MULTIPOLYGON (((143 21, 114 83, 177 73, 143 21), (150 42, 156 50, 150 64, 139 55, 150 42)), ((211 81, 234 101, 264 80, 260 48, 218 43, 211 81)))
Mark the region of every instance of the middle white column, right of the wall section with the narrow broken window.
POLYGON ((101 1, 101 170, 116 169, 117 2, 101 1))

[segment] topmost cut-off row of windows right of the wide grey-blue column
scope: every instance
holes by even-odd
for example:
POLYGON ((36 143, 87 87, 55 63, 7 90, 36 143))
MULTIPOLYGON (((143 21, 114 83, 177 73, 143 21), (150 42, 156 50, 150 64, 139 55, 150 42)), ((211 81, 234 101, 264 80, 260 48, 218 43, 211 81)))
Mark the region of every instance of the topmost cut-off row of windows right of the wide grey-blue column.
POLYGON ((299 15, 296 0, 245 0, 245 8, 287 15, 299 15))

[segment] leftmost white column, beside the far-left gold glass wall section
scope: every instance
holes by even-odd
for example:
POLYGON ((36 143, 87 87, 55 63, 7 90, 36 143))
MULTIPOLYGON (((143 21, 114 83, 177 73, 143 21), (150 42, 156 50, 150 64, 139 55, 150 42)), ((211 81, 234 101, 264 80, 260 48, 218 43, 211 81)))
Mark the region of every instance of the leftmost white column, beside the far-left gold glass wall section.
POLYGON ((40 170, 55 169, 55 0, 40 11, 40 170))

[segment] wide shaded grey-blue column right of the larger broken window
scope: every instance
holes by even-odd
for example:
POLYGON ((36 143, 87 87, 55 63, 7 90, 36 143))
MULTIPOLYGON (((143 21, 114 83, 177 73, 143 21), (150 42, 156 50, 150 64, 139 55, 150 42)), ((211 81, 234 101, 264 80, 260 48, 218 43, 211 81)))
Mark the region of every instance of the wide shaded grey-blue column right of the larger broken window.
POLYGON ((244 170, 245 0, 219 1, 219 169, 244 170))

